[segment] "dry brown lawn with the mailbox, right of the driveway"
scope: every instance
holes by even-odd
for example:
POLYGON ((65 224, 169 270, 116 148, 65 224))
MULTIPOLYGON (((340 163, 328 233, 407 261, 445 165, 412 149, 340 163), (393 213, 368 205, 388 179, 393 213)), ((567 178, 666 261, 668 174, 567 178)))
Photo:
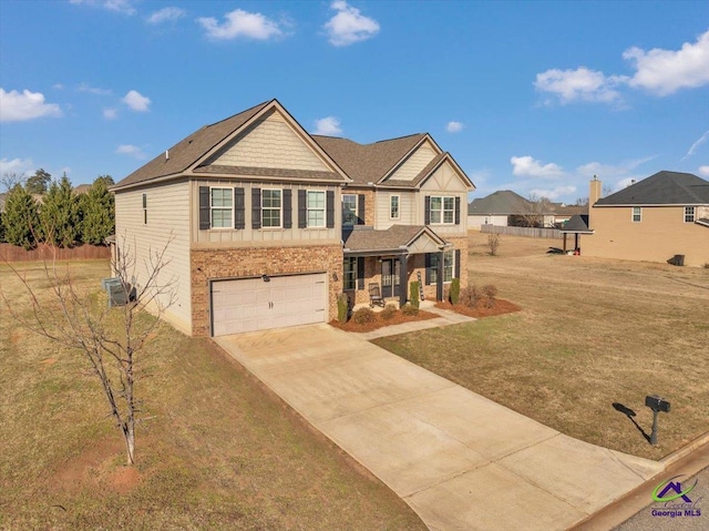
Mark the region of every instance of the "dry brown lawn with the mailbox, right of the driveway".
MULTIPOLYGON (((470 282, 522 312, 376 343, 564 433, 658 459, 709 431, 709 269, 551 255, 471 233, 470 282), (649 446, 646 395, 671 402, 649 446), (614 409, 633 409, 630 418, 614 409)), ((582 243, 583 245, 583 243, 582 243)))

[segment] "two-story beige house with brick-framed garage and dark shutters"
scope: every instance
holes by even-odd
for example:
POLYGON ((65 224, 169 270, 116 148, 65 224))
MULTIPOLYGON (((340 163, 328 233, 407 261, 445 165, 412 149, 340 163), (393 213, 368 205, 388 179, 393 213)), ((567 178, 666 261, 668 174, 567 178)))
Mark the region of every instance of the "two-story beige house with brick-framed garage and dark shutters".
MULTIPOLYGON (((428 134, 309 135, 276 100, 191 134, 115 186, 117 245, 169 241, 165 317, 194 336, 328 321, 369 286, 404 303, 419 274, 466 283, 472 182, 428 134)), ((145 273, 143 272, 143 275, 145 273)), ((141 274, 136 283, 141 283, 141 274)))

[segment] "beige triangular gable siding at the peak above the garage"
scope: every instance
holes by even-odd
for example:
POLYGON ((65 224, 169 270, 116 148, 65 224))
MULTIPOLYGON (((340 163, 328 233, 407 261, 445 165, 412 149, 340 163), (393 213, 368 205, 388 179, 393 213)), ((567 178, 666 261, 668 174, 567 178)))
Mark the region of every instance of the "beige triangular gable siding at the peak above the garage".
POLYGON ((332 171, 277 111, 235 137, 210 164, 332 171))

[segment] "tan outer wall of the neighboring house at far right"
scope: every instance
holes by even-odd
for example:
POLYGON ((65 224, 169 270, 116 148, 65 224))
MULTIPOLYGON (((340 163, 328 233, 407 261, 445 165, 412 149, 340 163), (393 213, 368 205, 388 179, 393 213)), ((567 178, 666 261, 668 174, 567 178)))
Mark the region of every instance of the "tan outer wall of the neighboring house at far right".
POLYGON ((664 263, 685 255, 685 265, 709 263, 709 227, 685 223, 684 206, 643 206, 640 222, 633 206, 594 206, 593 235, 582 236, 584 256, 664 263))

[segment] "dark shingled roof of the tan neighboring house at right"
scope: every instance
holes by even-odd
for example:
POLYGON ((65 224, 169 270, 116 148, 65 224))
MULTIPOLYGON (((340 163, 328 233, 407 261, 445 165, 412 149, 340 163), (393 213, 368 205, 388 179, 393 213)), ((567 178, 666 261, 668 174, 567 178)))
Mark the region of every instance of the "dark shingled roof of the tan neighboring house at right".
POLYGON ((594 206, 709 205, 709 181, 691 173, 661 171, 603 197, 594 206))

